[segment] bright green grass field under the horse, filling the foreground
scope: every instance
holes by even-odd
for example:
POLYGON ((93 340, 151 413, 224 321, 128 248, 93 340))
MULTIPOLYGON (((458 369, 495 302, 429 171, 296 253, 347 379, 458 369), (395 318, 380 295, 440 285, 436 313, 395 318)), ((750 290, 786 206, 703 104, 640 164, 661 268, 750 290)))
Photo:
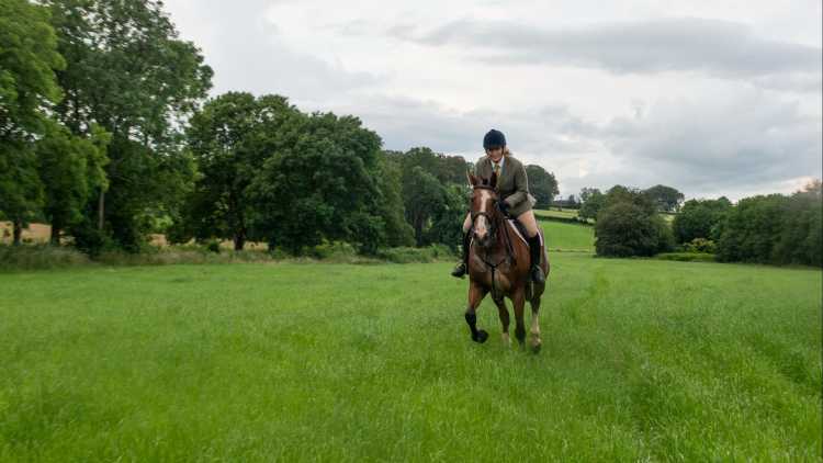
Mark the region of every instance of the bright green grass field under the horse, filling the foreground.
POLYGON ((820 461, 820 271, 552 257, 538 355, 449 263, 0 274, 0 461, 820 461))

